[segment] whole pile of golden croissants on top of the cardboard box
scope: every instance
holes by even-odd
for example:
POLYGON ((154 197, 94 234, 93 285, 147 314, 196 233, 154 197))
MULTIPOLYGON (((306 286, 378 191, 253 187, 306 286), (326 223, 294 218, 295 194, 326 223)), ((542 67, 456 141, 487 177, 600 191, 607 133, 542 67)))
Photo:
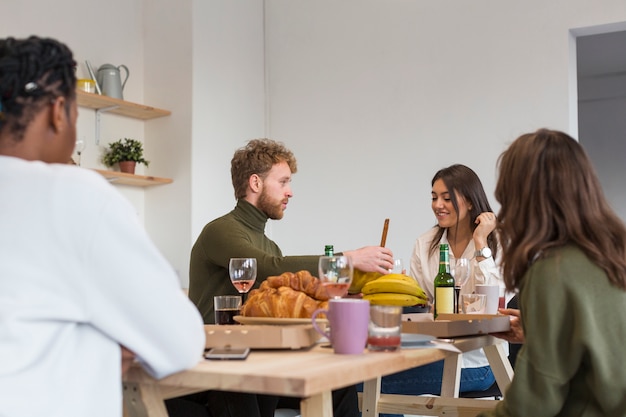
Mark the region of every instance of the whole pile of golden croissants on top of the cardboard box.
POLYGON ((285 272, 268 277, 258 289, 250 291, 241 314, 248 317, 310 318, 318 308, 328 308, 328 298, 320 280, 310 272, 285 272))

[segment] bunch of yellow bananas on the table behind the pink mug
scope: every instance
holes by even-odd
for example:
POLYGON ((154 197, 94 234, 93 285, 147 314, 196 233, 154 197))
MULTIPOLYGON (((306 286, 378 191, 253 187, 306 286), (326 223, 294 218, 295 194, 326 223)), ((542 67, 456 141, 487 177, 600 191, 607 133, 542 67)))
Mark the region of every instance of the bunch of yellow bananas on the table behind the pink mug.
POLYGON ((381 275, 361 288, 370 304, 414 306, 428 304, 428 296, 413 278, 403 274, 381 275))

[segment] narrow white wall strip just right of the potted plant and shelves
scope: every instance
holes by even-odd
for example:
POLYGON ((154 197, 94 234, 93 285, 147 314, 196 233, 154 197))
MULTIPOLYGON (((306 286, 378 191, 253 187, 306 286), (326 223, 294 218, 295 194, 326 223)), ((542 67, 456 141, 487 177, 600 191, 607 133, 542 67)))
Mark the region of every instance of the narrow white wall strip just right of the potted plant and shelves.
POLYGON ((146 189, 146 229, 187 286, 191 233, 193 33, 191 0, 143 1, 144 101, 172 115, 145 124, 153 175, 173 178, 146 189), (167 22, 167 24, 164 24, 167 22))

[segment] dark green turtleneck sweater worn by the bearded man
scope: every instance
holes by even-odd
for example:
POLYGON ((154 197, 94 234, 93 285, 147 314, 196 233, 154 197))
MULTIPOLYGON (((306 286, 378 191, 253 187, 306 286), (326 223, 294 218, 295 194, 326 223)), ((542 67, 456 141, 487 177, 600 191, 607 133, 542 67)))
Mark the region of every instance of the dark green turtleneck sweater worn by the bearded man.
POLYGON ((256 258, 254 288, 269 276, 307 270, 317 275, 320 255, 283 256, 276 243, 265 236, 268 217, 252 204, 239 200, 230 213, 207 224, 191 249, 189 298, 200 310, 205 324, 215 323, 213 296, 237 295, 230 282, 230 258, 256 258))

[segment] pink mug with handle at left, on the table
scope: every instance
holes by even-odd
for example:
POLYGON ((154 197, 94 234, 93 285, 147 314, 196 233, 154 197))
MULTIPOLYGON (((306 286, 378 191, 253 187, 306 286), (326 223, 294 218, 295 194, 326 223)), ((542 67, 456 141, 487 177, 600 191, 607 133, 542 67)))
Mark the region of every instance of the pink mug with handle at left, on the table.
POLYGON ((328 300, 328 310, 317 309, 311 320, 319 334, 326 336, 335 353, 363 353, 367 343, 367 327, 370 319, 370 302, 356 298, 333 298, 328 300), (325 313, 330 333, 321 330, 315 318, 325 313))

